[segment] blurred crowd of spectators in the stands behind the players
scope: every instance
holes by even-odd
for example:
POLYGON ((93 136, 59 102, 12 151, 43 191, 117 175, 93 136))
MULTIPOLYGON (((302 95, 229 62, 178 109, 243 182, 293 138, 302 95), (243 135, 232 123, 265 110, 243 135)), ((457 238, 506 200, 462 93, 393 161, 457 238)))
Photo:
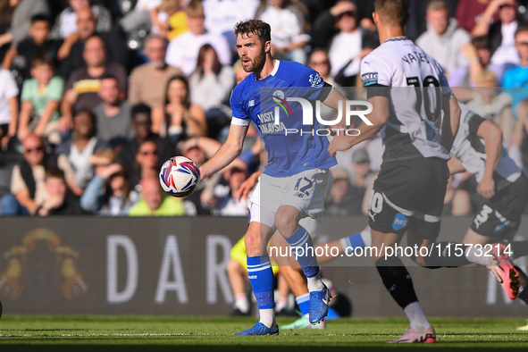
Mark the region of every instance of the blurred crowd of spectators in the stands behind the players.
MULTIPOLYGON (((527 3, 410 0, 406 26, 457 98, 499 125, 520 165, 527 3)), ((255 126, 239 159, 191 197, 166 197, 158 180, 171 156, 201 165, 227 138, 230 91, 247 77, 234 25, 268 22, 273 57, 358 97, 359 63, 380 44, 372 13, 373 0, 0 0, 2 214, 247 214, 233 195, 267 160, 255 126)), ((377 137, 338 156, 327 215, 366 214, 382 151, 377 137)), ((450 180, 446 214, 480 202, 471 174, 450 180)))

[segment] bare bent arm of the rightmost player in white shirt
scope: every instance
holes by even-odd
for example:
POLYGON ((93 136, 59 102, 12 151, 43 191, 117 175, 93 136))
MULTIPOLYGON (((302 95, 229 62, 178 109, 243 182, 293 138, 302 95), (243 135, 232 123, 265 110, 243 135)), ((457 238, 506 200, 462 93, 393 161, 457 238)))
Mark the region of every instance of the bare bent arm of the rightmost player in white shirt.
POLYGON ((477 130, 477 136, 484 139, 484 149, 486 151, 484 176, 477 187, 477 191, 482 197, 490 198, 495 195, 493 172, 497 169, 500 154, 502 153, 502 130, 495 126, 493 122, 484 121, 477 130))

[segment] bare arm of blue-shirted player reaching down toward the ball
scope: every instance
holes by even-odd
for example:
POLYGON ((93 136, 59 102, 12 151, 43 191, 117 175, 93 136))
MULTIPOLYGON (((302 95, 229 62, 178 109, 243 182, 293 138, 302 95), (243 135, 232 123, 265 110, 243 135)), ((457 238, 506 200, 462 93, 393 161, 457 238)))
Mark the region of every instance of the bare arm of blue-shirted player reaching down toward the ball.
POLYGON ((247 126, 232 124, 227 141, 218 149, 215 155, 209 161, 200 167, 201 180, 206 179, 212 174, 221 171, 224 167, 232 163, 242 153, 244 139, 246 138, 247 126))

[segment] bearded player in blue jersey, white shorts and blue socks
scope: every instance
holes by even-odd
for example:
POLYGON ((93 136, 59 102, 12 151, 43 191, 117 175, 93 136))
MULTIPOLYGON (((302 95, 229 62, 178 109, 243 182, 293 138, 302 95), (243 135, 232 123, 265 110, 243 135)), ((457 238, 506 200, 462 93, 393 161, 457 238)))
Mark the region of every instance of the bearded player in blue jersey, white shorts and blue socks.
MULTIPOLYGON (((205 179, 230 164, 242 151, 249 124, 256 123, 269 157, 249 202, 245 242, 247 272, 260 322, 237 335, 277 335, 273 273, 266 250, 275 229, 281 232, 293 253, 297 253, 298 263, 306 275, 310 323, 321 322, 328 313, 330 292, 321 281, 313 241, 298 222, 307 216, 318 219, 323 214, 328 169, 336 164, 327 152, 328 138, 324 133, 314 132, 323 130, 319 122, 314 119, 313 125, 303 125, 302 105, 289 102, 286 109, 284 99, 319 100, 337 109, 339 104, 344 105, 346 98, 325 83, 316 71, 300 63, 273 59, 271 28, 264 21, 239 22, 234 33, 244 71, 251 74, 233 89, 230 98, 233 116, 227 141, 202 165, 200 172, 205 179), (280 122, 275 123, 278 102, 282 102, 283 111, 280 122)), ((344 124, 335 126, 336 130, 339 128, 343 129, 344 124)))

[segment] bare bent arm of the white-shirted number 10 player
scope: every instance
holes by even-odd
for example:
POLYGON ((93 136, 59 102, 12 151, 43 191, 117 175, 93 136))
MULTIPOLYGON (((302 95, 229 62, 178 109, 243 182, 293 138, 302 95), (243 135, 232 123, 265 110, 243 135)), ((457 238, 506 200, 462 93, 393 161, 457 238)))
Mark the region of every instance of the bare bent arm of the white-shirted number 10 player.
POLYGON ((341 135, 334 137, 330 146, 328 146, 328 153, 331 156, 335 156, 339 151, 348 150, 368 138, 373 138, 385 125, 385 122, 389 120, 389 99, 387 96, 372 96, 368 99, 368 102, 373 105, 373 111, 366 115, 366 118, 373 125, 361 122, 361 125, 357 128, 359 130, 358 136, 341 135))

